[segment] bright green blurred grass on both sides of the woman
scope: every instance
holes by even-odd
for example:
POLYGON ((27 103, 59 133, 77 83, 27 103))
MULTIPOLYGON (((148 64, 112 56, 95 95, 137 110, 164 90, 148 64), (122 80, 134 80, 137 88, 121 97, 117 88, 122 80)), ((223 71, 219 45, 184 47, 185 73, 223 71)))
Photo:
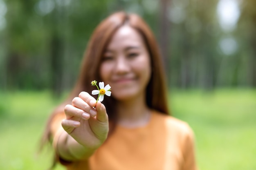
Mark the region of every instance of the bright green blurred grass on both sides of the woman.
MULTIPOLYGON (((49 91, 0 92, 0 170, 49 168, 51 150, 36 152, 47 117, 60 101, 49 91)), ((256 169, 256 90, 173 89, 170 107, 195 132, 200 170, 256 169)))

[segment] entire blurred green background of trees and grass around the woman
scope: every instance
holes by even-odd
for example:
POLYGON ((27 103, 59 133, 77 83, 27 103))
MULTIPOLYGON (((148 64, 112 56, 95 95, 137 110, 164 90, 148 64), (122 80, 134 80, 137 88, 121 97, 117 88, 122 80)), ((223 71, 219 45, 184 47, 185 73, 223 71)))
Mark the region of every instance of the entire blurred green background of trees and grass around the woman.
MULTIPOLYGON (((47 117, 76 81, 97 24, 141 15, 163 55, 173 116, 201 170, 256 169, 255 0, 0 0, 0 169, 45 170, 47 117)), ((56 170, 63 170, 57 166, 56 170)))

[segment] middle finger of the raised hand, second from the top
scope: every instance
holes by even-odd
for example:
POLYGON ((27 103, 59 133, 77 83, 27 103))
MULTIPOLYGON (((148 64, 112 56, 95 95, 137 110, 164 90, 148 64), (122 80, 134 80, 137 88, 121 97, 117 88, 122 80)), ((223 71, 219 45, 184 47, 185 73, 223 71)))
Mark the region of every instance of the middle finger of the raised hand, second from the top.
POLYGON ((72 105, 76 108, 80 108, 81 110, 84 110, 86 113, 89 113, 92 117, 96 116, 97 112, 94 108, 92 108, 88 103, 86 103, 83 99, 80 97, 75 97, 72 100, 72 105))

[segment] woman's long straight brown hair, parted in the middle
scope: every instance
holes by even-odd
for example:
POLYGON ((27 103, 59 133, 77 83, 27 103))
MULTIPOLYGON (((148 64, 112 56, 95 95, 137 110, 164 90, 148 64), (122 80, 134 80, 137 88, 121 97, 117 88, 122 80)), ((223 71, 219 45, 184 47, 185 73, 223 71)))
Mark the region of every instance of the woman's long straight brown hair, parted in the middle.
MULTIPOLYGON (((124 24, 136 29, 144 39, 147 50, 150 54, 152 74, 148 86, 146 88, 146 104, 149 108, 157 110, 163 114, 170 114, 167 104, 167 88, 166 79, 163 71, 162 59, 159 53, 159 48, 155 37, 149 26, 137 14, 127 14, 123 11, 113 13, 108 18, 103 20, 92 33, 88 47, 85 51, 81 70, 70 96, 65 102, 59 105, 49 117, 47 128, 43 135, 43 143, 51 138, 50 124, 53 117, 57 114, 63 114, 64 106, 70 104, 72 99, 79 95, 81 91, 90 93, 94 90, 91 81, 96 79, 101 81, 99 75, 99 67, 103 53, 112 38, 112 35, 124 24)), ((115 99, 106 97, 103 101, 105 104, 109 120, 115 124, 115 99)))

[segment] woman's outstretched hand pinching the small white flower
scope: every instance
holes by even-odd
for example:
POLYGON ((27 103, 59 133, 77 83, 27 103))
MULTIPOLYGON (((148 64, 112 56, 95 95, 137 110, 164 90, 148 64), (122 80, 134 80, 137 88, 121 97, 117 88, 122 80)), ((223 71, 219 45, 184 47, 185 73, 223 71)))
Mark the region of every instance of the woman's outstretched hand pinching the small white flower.
POLYGON ((98 148, 103 144, 109 128, 106 108, 101 102, 96 104, 94 97, 81 92, 64 110, 66 119, 61 122, 62 127, 79 144, 86 148, 98 148))

